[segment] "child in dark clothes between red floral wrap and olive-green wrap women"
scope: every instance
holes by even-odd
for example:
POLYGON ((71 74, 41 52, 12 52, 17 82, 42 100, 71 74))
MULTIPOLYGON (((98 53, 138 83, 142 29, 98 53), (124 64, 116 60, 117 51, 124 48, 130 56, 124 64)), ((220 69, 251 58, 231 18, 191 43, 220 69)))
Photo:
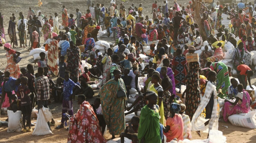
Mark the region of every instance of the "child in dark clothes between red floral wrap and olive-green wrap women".
POLYGON ((103 118, 103 113, 102 113, 102 108, 100 103, 101 103, 100 98, 99 97, 95 98, 94 103, 92 104, 92 108, 100 123, 100 127, 102 127, 102 135, 103 135, 106 128, 106 122, 103 118))

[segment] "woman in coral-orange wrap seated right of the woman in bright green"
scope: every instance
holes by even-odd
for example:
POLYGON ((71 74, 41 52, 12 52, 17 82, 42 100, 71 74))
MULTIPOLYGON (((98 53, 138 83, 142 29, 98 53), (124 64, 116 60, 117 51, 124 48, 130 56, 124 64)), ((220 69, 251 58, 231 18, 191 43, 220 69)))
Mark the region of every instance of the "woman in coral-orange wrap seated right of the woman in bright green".
POLYGON ((166 127, 163 127, 166 142, 172 141, 174 138, 183 140, 183 120, 179 114, 180 105, 172 103, 170 105, 171 116, 166 120, 166 127))

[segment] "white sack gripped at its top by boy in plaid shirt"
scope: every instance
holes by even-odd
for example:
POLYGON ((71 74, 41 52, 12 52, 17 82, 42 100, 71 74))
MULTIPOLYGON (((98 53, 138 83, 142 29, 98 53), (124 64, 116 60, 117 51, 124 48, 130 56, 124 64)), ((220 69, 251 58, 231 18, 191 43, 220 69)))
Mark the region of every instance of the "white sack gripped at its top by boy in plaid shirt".
MULTIPOLYGON (((36 127, 32 133, 32 135, 50 135, 53 134, 50 130, 47 120, 45 117, 46 108, 42 107, 38 113, 38 117, 36 119, 36 127)), ((48 117, 49 118, 49 117, 48 117)))

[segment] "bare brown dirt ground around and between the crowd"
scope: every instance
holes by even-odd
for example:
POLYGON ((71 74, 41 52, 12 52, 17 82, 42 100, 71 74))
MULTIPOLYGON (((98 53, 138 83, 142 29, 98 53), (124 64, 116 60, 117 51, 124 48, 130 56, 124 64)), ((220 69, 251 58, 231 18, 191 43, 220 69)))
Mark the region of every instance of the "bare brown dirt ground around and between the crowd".
MULTIPOLYGON (((110 0, 108 0, 110 1, 110 0)), ((39 8, 37 6, 37 0, 1 0, 0 2, 0 12, 4 16, 4 29, 5 29, 5 34, 6 34, 6 42, 10 43, 9 36, 7 34, 7 29, 8 29, 8 22, 9 22, 9 17, 11 16, 12 13, 15 14, 16 20, 18 19, 18 14, 19 12, 23 12, 24 17, 27 17, 28 14, 28 8, 32 7, 32 9, 37 12, 38 10, 42 11, 42 14, 48 15, 54 15, 54 12, 58 12, 58 16, 61 20, 61 9, 62 5, 65 5, 68 14, 75 14, 76 8, 80 9, 80 12, 84 15, 87 9, 86 6, 86 0, 42 0, 43 4, 39 8)), ((94 4, 96 3, 102 3, 100 0, 92 0, 94 4)), ((120 4, 120 0, 117 0, 117 2, 120 4)), ((126 8, 128 9, 129 6, 131 6, 132 3, 134 3, 134 6, 138 6, 139 3, 142 3, 143 7, 143 14, 144 17, 146 15, 149 16, 149 18, 152 17, 151 13, 151 6, 154 0, 143 0, 140 2, 136 2, 135 0, 128 0, 125 3, 126 8)), ((109 2, 103 2, 105 4, 105 7, 109 6, 109 2)), ((168 1, 168 6, 173 6, 172 1, 168 1)), ((188 4, 188 1, 186 0, 180 0, 180 4, 183 6, 186 6, 188 4)), ((158 1, 158 5, 162 5, 162 1, 158 1)), ((75 16, 74 16, 75 18, 75 16)), ((18 20, 17 20, 18 21, 18 20)), ((17 38, 18 38, 18 33, 17 33, 17 38)), ((19 38, 18 38, 19 39, 19 38)), ((111 38, 106 38, 104 39, 106 41, 114 41, 114 39, 111 38)), ((44 41, 43 37, 41 37, 41 44, 44 41)), ((19 43, 19 41, 18 41, 19 43)), ((23 59, 20 61, 19 66, 20 68, 26 67, 28 63, 33 63, 34 59, 32 56, 29 56, 28 48, 20 48, 17 47, 15 48, 16 51, 20 51, 22 54, 20 55, 23 59)), ((4 71, 7 63, 6 63, 6 55, 5 55, 4 47, 0 47, 0 69, 4 71)), ((37 64, 34 66, 35 71, 37 71, 37 64)), ((255 75, 253 76, 252 84, 256 85, 256 79, 255 75)), ((53 80, 56 80, 56 77, 52 77, 53 80)), ((98 96, 98 90, 95 90, 96 94, 94 95, 94 98, 98 96)), ((88 100, 90 103, 93 103, 94 98, 88 100)), ((73 102, 74 105, 74 113, 77 112, 79 106, 77 105, 76 101, 73 102)), ((62 105, 61 104, 51 104, 49 105, 52 115, 54 117, 54 120, 56 121, 56 125, 59 125, 60 122, 58 122, 61 119, 61 111, 62 111, 62 105)), ((0 120, 5 120, 7 119, 6 115, 1 115, 0 120)), ((32 120, 32 123, 36 120, 32 120)), ((54 129, 55 126, 52 126, 52 132, 54 133, 53 135, 44 135, 44 136, 33 136, 32 133, 7 133, 7 127, 0 127, 0 143, 12 143, 12 142, 28 142, 28 143, 34 143, 34 142, 52 142, 52 143, 63 143, 67 141, 68 137, 68 131, 65 129, 60 129, 56 130, 54 129)), ((34 127, 32 127, 34 129, 34 127)), ((219 130, 223 132, 224 136, 227 137, 227 143, 255 143, 256 141, 256 129, 248 129, 244 127, 236 127, 231 125, 230 123, 219 123, 219 130), (222 125, 228 126, 228 128, 223 127, 222 125)), ((202 133, 202 137, 199 137, 194 131, 192 131, 192 139, 206 139, 207 134, 202 133)), ((107 132, 105 138, 109 140, 111 138, 111 135, 107 132)))

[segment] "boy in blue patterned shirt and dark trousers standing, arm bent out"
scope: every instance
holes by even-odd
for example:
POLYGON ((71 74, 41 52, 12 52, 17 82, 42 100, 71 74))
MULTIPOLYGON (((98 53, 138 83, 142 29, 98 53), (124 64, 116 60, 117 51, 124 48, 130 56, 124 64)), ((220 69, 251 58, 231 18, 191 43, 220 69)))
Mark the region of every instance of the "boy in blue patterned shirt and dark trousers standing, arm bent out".
POLYGON ((73 87, 76 87, 77 89, 81 89, 80 86, 75 84, 70 78, 70 72, 65 71, 65 80, 63 82, 63 100, 62 100, 62 118, 61 118, 61 124, 56 127, 56 129, 61 129, 64 127, 64 121, 65 121, 65 114, 68 112, 69 116, 73 116, 73 96, 76 95, 76 92, 72 92, 73 87))

